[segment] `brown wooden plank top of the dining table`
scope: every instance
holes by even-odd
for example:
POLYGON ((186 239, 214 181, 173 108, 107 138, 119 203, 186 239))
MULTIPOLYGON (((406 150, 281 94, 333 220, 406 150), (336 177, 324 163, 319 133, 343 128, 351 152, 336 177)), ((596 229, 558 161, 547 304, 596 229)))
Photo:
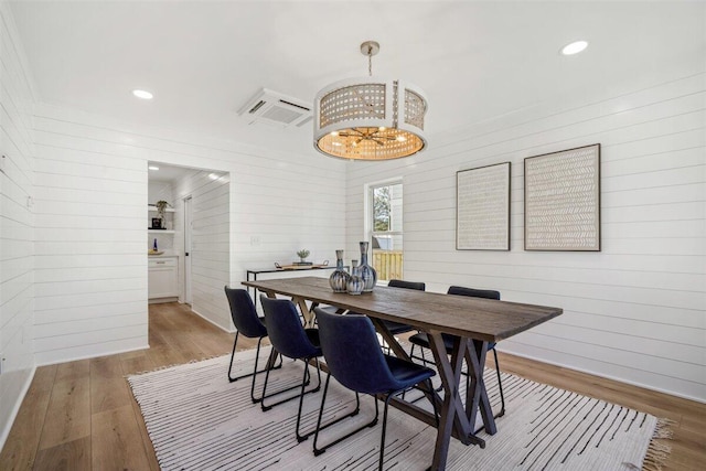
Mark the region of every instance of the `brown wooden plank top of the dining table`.
POLYGON ((563 309, 377 286, 362 295, 336 293, 319 277, 243 281, 267 293, 291 296, 411 325, 498 342, 560 315, 563 309))

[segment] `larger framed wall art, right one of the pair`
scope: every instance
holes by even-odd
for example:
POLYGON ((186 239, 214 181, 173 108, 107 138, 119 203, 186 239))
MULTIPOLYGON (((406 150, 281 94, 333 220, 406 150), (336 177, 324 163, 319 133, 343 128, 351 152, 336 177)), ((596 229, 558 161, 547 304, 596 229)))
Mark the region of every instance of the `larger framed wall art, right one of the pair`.
POLYGON ((600 251, 600 144, 525 159, 525 250, 600 251))

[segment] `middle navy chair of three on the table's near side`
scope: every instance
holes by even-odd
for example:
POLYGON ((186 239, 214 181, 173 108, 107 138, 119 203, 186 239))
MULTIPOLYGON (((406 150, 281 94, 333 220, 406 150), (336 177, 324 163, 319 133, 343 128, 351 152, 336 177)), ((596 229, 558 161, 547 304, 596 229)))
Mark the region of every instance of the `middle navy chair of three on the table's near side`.
MULTIPOLYGON (((299 410, 297 413, 297 427, 296 435, 297 441, 301 442, 309 438, 313 430, 309 433, 300 433, 301 425, 301 408, 304 399, 304 395, 309 393, 315 393, 321 388, 321 370, 319 368, 319 357, 322 356, 321 346, 319 345, 319 330, 318 329, 304 329, 299 319, 299 312, 293 302, 288 299, 272 299, 266 296, 260 296, 260 302, 263 311, 265 312, 265 320, 267 322, 267 332, 269 333, 269 341, 272 347, 282 356, 292 360, 302 360, 304 362, 303 377, 301 378, 301 390, 299 393, 299 410), (317 386, 306 390, 307 385, 310 383, 311 375, 309 373, 309 362, 313 360, 317 366, 317 386)), ((272 350, 272 351, 275 351, 272 350)), ((270 358, 272 361, 274 358, 270 358)), ((263 410, 269 410, 272 407, 293 399, 297 396, 288 397, 279 400, 278 403, 266 405, 265 399, 277 396, 285 390, 279 390, 267 395, 267 384, 269 382, 269 370, 265 373, 265 384, 263 385, 263 410)))

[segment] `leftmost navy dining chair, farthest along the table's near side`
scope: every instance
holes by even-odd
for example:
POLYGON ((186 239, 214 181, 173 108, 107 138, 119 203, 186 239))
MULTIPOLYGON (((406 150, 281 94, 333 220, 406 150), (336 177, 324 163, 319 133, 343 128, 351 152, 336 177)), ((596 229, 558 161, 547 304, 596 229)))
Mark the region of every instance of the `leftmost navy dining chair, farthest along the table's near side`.
MULTIPOLYGON (((245 377, 253 377, 253 384, 250 385, 250 399, 253 403, 259 403, 261 397, 255 397, 255 376, 258 373, 264 373, 267 367, 257 370, 257 363, 260 357, 260 345, 263 339, 267 336, 267 327, 265 325, 265 319, 257 315, 255 304, 247 290, 228 288, 225 286, 225 296, 228 299, 228 306, 231 307, 231 319, 235 325, 235 341, 233 342, 233 352, 231 353, 231 364, 228 365, 228 382, 234 383, 245 377), (253 373, 243 374, 240 376, 233 376, 233 358, 235 357, 235 349, 238 344, 238 336, 243 335, 248 339, 257 339, 257 351, 255 353, 255 366, 253 373)), ((280 363, 277 367, 281 366, 280 363)))

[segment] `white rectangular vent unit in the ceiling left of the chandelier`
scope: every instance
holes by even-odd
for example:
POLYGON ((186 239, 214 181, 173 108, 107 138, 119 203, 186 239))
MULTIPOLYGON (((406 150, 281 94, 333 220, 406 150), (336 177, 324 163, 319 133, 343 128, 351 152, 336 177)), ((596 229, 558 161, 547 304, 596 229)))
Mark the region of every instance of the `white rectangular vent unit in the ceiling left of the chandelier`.
POLYGON ((312 119, 310 104, 267 88, 255 94, 239 109, 238 115, 247 119, 248 125, 264 122, 285 128, 301 127, 312 119))

